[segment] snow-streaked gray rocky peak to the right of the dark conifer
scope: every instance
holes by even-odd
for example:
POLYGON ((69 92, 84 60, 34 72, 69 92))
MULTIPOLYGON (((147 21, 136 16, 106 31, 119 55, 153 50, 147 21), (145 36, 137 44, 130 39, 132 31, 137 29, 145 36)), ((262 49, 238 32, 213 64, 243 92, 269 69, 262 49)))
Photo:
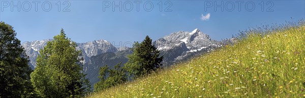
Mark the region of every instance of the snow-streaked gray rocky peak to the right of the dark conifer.
POLYGON ((199 29, 192 32, 179 31, 153 42, 164 56, 163 64, 171 65, 175 62, 189 59, 198 53, 206 53, 220 47, 220 41, 211 40, 210 36, 199 29))

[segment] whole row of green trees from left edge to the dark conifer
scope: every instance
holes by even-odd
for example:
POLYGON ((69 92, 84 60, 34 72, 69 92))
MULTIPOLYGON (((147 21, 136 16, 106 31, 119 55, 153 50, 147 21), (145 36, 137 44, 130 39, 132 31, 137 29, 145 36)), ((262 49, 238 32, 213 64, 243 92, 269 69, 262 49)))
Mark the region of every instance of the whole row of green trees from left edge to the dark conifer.
MULTIPOLYGON (((0 22, 0 97, 82 97, 92 92, 77 44, 63 29, 53 39, 39 51, 33 71, 13 27, 0 22)), ((146 36, 141 43, 135 42, 124 67, 120 63, 114 69, 101 67, 95 91, 125 83, 128 76, 136 79, 161 68, 163 56, 151 41, 146 36)))

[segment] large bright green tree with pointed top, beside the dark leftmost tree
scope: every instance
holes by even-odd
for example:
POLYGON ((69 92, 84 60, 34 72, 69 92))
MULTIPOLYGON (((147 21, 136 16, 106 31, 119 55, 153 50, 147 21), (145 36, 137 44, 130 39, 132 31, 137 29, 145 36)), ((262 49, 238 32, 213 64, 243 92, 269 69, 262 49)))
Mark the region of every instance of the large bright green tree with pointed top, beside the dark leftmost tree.
POLYGON ((82 52, 64 30, 40 50, 37 67, 31 74, 35 91, 42 97, 78 97, 90 91, 82 73, 82 52))

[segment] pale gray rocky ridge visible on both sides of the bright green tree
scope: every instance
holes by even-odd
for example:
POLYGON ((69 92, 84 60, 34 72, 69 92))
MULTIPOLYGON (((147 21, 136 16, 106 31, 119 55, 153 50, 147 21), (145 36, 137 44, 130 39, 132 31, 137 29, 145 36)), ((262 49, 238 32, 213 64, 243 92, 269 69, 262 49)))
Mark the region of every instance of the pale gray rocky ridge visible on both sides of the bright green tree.
MULTIPOLYGON (((36 59, 39 55, 39 51, 47 45, 48 41, 52 39, 45 39, 45 40, 36 40, 31 42, 23 42, 22 47, 24 47, 26 55, 29 57, 29 65, 32 65, 31 68, 36 67, 36 59)), ((84 61, 86 63, 89 61, 89 58, 92 56, 96 56, 99 54, 107 53, 107 52, 117 52, 116 48, 106 40, 94 40, 85 43, 77 43, 77 50, 81 50, 83 53, 84 61)))

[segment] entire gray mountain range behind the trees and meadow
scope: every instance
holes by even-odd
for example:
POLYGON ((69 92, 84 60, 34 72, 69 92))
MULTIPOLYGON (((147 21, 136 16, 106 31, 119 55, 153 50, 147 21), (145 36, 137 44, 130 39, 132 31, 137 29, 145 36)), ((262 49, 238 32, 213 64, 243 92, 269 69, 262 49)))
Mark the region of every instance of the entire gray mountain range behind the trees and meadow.
MULTIPOLYGON (((36 40, 23 42, 22 46, 25 53, 29 56, 29 65, 32 69, 36 67, 36 59, 39 51, 52 39, 36 40)), ((221 47, 234 39, 222 41, 212 40, 209 35, 204 34, 199 29, 192 32, 179 31, 157 39, 153 44, 164 56, 162 64, 170 66, 174 63, 186 61, 192 57, 199 56, 221 47)), ((121 62, 123 66, 127 61, 127 56, 132 54, 130 47, 115 47, 106 40, 94 40, 85 43, 77 43, 77 50, 83 53, 83 68, 86 77, 94 85, 99 81, 99 69, 105 65, 113 68, 114 65, 121 62)))

